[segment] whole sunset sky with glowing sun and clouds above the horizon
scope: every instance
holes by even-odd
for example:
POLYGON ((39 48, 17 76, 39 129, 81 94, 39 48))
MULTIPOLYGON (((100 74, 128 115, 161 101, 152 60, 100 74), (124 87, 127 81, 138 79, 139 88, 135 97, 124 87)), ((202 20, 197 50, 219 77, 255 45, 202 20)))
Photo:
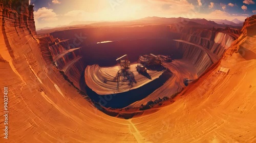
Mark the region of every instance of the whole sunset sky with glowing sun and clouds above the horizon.
POLYGON ((134 20, 147 16, 206 19, 256 14, 256 0, 31 0, 37 29, 72 21, 134 20))

